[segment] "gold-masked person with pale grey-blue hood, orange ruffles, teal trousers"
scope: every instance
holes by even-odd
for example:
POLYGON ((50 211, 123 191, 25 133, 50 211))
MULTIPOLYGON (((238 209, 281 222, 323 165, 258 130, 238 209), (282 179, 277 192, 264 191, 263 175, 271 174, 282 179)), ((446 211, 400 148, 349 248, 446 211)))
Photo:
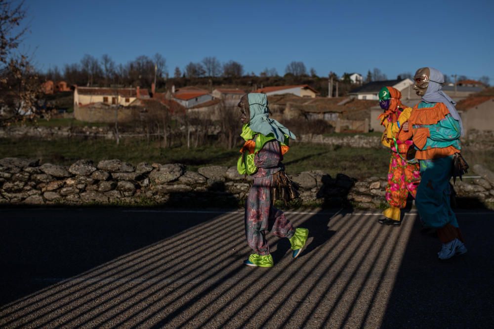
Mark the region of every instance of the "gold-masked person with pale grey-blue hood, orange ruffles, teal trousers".
POLYGON ((422 224, 437 229, 442 242, 439 258, 448 259, 467 251, 450 204, 453 158, 459 157, 463 126, 456 103, 442 90, 443 73, 421 68, 414 79, 413 89, 422 101, 413 108, 398 138, 413 140, 421 176, 415 205, 422 224))

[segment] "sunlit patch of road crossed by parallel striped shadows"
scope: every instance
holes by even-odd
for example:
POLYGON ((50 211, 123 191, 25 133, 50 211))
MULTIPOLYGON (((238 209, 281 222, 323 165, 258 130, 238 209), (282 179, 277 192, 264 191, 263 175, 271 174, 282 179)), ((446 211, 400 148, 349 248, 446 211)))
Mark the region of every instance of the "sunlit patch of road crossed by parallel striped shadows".
MULTIPOLYGON (((173 216, 172 213, 164 216, 173 216)), ((242 212, 209 221, 3 306, 2 328, 379 327, 415 216, 288 212, 301 256, 269 236, 275 267, 242 264, 242 212)))

